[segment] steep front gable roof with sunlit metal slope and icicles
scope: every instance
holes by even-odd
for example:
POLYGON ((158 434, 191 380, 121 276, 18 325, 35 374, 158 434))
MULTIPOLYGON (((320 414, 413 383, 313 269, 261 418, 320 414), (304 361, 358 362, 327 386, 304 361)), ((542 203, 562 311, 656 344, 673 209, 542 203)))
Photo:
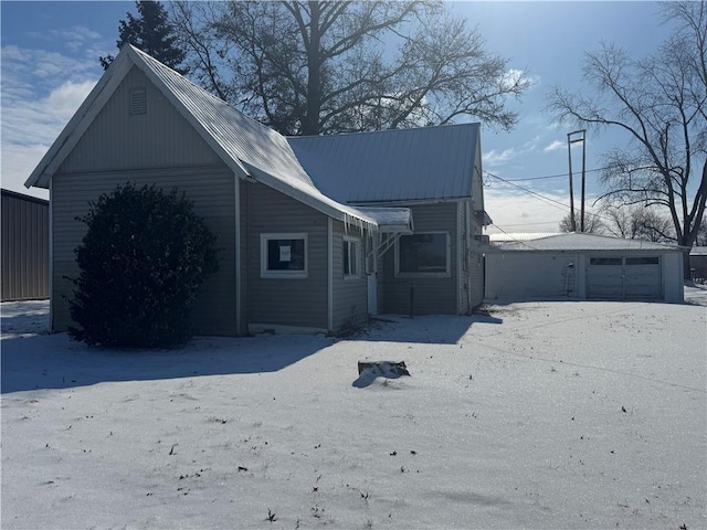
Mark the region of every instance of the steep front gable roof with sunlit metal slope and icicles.
POLYGON ((32 171, 25 187, 49 188, 54 172, 133 66, 145 73, 238 177, 250 177, 347 224, 370 227, 379 225, 373 216, 340 204, 321 193, 285 137, 246 117, 130 44, 123 46, 110 67, 32 171))

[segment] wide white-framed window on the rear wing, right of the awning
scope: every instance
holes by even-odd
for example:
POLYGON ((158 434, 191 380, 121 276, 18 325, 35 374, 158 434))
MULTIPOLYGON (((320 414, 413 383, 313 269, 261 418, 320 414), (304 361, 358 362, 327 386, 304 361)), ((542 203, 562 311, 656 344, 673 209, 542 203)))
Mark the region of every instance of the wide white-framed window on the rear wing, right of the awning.
POLYGON ((429 232, 401 235, 395 245, 395 274, 449 276, 450 234, 429 232))

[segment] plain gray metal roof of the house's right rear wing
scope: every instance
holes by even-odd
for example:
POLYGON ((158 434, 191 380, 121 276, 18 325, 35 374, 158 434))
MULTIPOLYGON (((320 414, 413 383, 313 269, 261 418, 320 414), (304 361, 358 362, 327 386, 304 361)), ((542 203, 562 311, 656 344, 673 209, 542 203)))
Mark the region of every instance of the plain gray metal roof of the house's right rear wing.
POLYGON ((349 204, 468 199, 479 124, 288 137, 323 193, 349 204))

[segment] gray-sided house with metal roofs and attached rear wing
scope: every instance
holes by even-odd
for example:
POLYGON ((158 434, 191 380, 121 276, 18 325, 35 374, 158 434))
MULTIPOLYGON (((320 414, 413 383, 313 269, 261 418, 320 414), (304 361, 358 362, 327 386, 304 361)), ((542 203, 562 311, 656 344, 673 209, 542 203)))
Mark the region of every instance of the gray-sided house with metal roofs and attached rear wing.
POLYGON ((51 329, 71 324, 76 215, 127 181, 178 187, 219 236, 200 335, 468 312, 489 221, 479 146, 477 124, 287 139, 126 45, 27 182, 50 189, 51 329))

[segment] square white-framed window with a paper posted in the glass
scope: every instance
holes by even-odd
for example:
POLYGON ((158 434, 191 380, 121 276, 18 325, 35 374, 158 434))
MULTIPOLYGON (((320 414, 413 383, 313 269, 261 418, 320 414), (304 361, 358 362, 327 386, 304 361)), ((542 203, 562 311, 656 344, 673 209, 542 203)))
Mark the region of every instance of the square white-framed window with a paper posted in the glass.
POLYGON ((307 234, 261 234, 261 277, 306 278, 307 234))

